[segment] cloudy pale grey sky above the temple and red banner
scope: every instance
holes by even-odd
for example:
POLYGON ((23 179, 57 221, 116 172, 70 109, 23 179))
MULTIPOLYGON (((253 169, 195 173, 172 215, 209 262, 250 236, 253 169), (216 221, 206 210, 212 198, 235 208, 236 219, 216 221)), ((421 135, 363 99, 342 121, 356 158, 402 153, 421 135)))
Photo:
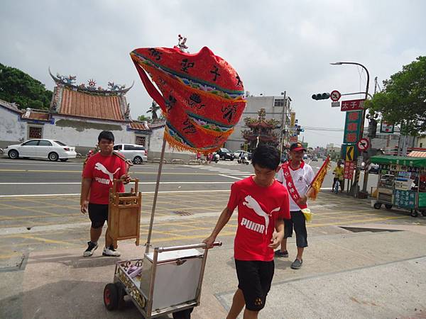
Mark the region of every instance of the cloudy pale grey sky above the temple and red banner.
MULTIPOLYGON (((151 99, 129 52, 173 47, 185 35, 190 52, 203 46, 224 57, 253 95, 287 91, 299 123, 343 128, 344 114, 312 94, 364 91, 359 62, 382 81, 426 54, 426 1, 19 1, 2 0, 0 62, 53 89, 53 74, 129 86, 131 116, 146 114, 151 99)), ((357 98, 357 96, 354 96, 357 98)), ((301 135, 302 137, 302 135, 301 135)), ((310 146, 342 143, 343 132, 306 130, 310 146)))

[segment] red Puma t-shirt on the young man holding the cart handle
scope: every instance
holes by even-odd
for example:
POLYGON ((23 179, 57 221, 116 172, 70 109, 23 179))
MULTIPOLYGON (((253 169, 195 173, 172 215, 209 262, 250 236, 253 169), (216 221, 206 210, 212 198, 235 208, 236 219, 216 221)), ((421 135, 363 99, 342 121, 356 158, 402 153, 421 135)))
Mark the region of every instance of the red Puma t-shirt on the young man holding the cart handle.
POLYGON ((236 181, 231 186, 228 209, 238 206, 238 228, 234 240, 234 258, 238 260, 273 259, 268 247, 275 230, 275 220, 290 219, 288 192, 278 181, 261 187, 253 177, 236 181))

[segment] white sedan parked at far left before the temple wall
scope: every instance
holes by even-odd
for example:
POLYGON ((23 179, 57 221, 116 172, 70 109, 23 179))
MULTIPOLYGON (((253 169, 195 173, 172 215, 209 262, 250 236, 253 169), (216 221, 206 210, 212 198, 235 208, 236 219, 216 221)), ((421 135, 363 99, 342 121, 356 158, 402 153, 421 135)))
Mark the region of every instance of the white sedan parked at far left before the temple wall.
POLYGON ((11 159, 19 157, 47 158, 50 161, 61 162, 67 161, 69 158, 75 158, 77 153, 75 147, 68 146, 59 140, 33 139, 27 140, 22 144, 9 145, 4 149, 11 159))

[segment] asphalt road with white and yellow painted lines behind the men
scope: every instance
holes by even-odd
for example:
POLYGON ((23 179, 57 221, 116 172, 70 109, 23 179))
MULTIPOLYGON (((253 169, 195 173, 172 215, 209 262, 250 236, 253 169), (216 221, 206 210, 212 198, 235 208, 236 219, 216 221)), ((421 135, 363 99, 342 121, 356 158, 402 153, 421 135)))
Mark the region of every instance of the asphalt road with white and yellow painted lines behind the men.
MULTIPOLYGON (((317 172, 322 162, 311 164, 317 172)), ((13 267, 16 260, 28 252, 84 247, 89 220, 80 213, 81 169, 82 163, 77 160, 0 159, 0 235, 3 236, 0 263, 3 262, 4 267, 13 267)), ((157 172, 158 164, 155 163, 131 168, 132 177, 140 179, 143 193, 143 237, 148 232, 157 172)), ((153 240, 187 242, 204 238, 226 206, 231 184, 251 174, 251 165, 231 161, 209 165, 163 165, 153 240), (199 225, 199 220, 202 220, 203 227, 190 227, 191 223, 199 225)), ((370 180, 373 183, 373 179, 370 180)), ((331 194, 331 184, 332 174, 329 173, 324 179, 320 198, 311 205, 321 211, 315 217, 315 224, 310 225, 319 233, 339 233, 338 228, 327 229, 327 225, 395 217, 382 213, 378 216, 375 211, 366 213, 371 211, 368 206, 351 208, 357 201, 349 196, 331 194)), ((229 231, 224 235, 234 235, 235 221, 236 218, 231 220, 229 231)))

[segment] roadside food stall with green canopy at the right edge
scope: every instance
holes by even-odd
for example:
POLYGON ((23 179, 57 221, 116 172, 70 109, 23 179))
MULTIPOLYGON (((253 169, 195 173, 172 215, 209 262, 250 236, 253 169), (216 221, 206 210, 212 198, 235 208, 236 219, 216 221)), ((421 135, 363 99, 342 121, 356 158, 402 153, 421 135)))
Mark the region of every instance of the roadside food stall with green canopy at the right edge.
POLYGON ((371 163, 378 164, 374 208, 384 204, 408 209, 413 217, 426 216, 426 158, 377 155, 371 163))

